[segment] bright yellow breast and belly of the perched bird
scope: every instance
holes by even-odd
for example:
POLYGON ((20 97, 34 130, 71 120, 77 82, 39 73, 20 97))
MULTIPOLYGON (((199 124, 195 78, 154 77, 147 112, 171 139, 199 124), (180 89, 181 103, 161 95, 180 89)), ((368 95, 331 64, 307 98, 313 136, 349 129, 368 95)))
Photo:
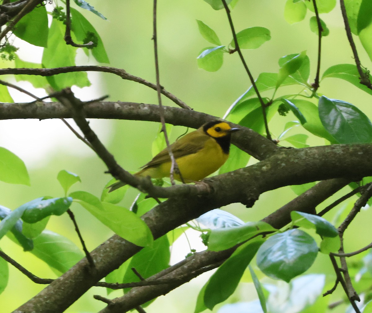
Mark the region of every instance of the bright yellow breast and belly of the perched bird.
MULTIPOLYGON (((198 152, 176 158, 177 165, 185 183, 202 180, 217 171, 228 158, 222 152, 221 146, 212 137, 206 140, 205 145, 198 152)), ((152 178, 169 177, 171 162, 164 162, 157 167, 149 167, 142 171, 141 176, 149 175, 152 178)), ((175 174, 176 180, 182 181, 175 174)))

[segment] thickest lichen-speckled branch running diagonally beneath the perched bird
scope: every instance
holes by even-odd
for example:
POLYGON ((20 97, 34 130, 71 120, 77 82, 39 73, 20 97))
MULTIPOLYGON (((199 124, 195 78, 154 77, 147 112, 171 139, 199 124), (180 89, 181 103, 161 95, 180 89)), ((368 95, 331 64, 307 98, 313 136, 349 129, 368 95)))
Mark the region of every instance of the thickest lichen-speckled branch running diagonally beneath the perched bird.
MULTIPOLYGON (((260 194, 278 187, 333 177, 371 176, 372 164, 368 158, 371 153, 370 144, 279 149, 266 160, 250 167, 205 179, 214 195, 172 197, 144 214, 142 219, 154 238, 159 238, 211 209, 233 202, 251 206, 260 194)), ((82 259, 15 312, 63 312, 93 284, 140 249, 114 235, 91 253, 96 265, 93 274, 87 271, 87 260, 82 259), (45 305, 45 298, 49 299, 48 306, 45 305)))

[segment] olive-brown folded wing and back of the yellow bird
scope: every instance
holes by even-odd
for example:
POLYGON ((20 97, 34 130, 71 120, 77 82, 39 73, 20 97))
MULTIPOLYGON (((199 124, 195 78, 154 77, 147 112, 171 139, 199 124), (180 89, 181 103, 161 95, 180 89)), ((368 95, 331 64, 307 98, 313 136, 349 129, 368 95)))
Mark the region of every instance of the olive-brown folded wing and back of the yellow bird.
MULTIPOLYGON (((205 142, 211 137, 204 133, 195 131, 181 137, 176 142, 170 145, 174 157, 180 158, 181 156, 189 155, 198 152, 205 145, 205 142)), ((142 167, 155 166, 164 162, 170 161, 168 149, 165 148, 160 151, 154 158, 142 167)))

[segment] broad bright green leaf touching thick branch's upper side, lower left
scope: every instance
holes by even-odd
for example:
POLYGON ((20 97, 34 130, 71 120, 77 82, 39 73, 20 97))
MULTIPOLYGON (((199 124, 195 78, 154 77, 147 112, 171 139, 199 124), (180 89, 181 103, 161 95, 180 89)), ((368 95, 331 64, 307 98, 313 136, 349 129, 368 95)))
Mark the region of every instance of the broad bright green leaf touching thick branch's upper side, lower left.
POLYGON ((71 240, 49 230, 44 230, 33 242, 35 247, 31 253, 61 273, 84 257, 71 240))

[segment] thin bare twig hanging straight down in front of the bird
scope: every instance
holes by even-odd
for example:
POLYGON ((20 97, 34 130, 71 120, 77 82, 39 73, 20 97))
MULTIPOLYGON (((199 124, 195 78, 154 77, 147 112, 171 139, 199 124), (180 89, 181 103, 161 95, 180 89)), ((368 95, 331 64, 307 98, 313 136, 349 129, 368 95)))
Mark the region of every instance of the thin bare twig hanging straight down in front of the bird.
POLYGON ((164 119, 164 108, 161 104, 161 87, 160 87, 160 75, 159 75, 159 61, 158 61, 158 39, 157 39, 157 32, 156 32, 156 5, 157 0, 154 0, 154 7, 153 7, 153 41, 154 41, 154 56, 155 56, 155 76, 156 76, 156 90, 158 94, 158 103, 159 103, 159 111, 160 111, 160 122, 161 122, 161 129, 164 133, 164 139, 167 144, 167 149, 169 153, 169 157, 171 160, 171 167, 170 167, 170 182, 172 185, 176 184, 174 182, 174 173, 180 173, 180 170, 177 165, 176 158, 174 158, 174 154, 172 149, 170 148, 169 138, 167 134, 167 128, 165 126, 165 119, 164 119), (177 171, 178 170, 178 171, 177 171))

